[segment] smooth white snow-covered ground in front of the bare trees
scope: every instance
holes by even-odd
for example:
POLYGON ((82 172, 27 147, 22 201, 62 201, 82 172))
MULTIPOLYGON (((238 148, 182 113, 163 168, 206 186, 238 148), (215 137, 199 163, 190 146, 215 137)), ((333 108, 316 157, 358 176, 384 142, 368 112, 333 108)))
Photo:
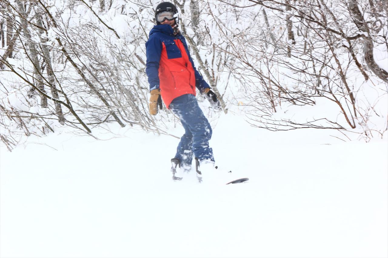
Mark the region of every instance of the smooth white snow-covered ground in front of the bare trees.
POLYGON ((215 185, 171 181, 178 139, 116 131, 1 148, 1 257, 388 256, 386 137, 345 142, 223 115, 217 164, 250 181, 215 185))

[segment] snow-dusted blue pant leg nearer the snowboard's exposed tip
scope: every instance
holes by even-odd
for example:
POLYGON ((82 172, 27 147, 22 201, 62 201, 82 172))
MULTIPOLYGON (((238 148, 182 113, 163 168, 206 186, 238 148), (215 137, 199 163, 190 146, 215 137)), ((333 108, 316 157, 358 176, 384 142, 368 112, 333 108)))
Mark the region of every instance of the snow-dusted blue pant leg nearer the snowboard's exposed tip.
POLYGON ((174 99, 170 108, 180 118, 186 132, 192 134, 192 152, 199 160, 212 160, 213 150, 209 146, 211 126, 198 105, 194 95, 187 94, 174 99))

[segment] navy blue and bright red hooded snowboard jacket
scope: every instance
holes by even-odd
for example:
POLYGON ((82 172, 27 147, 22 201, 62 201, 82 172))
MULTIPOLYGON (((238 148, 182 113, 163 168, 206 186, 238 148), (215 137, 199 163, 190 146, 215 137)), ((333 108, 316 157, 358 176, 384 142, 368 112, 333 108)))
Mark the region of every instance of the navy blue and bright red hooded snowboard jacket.
POLYGON ((203 92, 209 88, 194 66, 187 43, 182 34, 174 36, 168 24, 155 25, 145 43, 149 88, 160 89, 167 108, 173 99, 184 94, 196 95, 195 88, 203 92))

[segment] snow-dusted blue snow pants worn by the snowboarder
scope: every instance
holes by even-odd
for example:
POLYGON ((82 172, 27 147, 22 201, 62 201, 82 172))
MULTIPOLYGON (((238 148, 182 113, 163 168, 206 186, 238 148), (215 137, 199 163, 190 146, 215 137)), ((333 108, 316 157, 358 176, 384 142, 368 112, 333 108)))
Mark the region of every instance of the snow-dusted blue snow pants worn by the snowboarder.
POLYGON ((185 129, 185 134, 180 138, 175 158, 181 160, 181 165, 190 166, 194 157, 201 160, 214 162, 213 150, 209 147, 211 127, 197 99, 192 94, 175 98, 170 108, 177 115, 185 129))

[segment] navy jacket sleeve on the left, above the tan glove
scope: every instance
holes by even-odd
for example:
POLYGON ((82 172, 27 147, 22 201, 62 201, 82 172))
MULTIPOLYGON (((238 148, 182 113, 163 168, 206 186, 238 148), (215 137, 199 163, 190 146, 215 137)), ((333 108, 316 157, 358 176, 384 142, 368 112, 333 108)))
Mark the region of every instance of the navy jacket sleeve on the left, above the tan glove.
POLYGON ((156 36, 151 36, 145 43, 147 62, 145 73, 148 76, 149 90, 159 89, 159 62, 162 53, 162 42, 156 36))

